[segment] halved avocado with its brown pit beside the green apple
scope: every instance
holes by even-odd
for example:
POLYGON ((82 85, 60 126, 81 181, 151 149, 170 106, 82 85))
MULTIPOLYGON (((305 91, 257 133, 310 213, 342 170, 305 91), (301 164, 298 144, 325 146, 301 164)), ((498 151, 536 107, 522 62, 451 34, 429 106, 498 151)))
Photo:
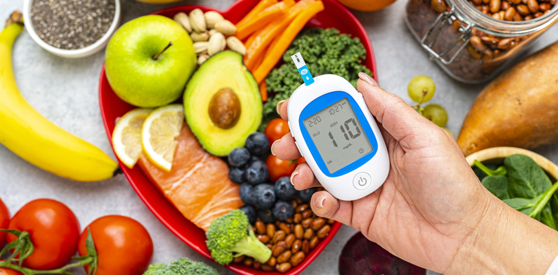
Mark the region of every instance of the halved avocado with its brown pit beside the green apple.
POLYGON ((209 153, 223 157, 244 146, 262 122, 262 97, 240 54, 220 52, 200 66, 186 85, 184 113, 209 153))

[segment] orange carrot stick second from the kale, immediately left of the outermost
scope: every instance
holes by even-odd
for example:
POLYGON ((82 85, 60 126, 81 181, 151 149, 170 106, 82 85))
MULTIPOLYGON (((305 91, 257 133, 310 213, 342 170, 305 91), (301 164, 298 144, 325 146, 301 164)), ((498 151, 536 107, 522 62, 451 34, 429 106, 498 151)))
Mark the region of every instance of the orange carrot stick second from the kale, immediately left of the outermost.
POLYGON ((289 8, 287 14, 283 14, 281 17, 272 21, 261 31, 261 33, 254 37, 254 39, 250 38, 249 45, 246 46, 246 54, 244 56, 244 63, 248 69, 255 69, 256 62, 265 54, 267 50, 267 46, 273 41, 276 36, 280 36, 280 34, 287 28, 289 23, 296 18, 296 16, 302 12, 305 8, 308 8, 312 3, 316 3, 315 0, 301 0, 289 8))

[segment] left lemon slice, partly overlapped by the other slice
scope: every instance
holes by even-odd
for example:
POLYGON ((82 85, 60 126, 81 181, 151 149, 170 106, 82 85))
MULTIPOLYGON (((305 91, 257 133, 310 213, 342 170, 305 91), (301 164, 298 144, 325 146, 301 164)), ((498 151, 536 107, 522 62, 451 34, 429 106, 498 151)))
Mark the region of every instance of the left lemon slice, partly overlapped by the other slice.
POLYGON ((133 109, 123 115, 112 131, 112 146, 116 157, 127 166, 133 168, 141 156, 141 126, 153 109, 133 109))

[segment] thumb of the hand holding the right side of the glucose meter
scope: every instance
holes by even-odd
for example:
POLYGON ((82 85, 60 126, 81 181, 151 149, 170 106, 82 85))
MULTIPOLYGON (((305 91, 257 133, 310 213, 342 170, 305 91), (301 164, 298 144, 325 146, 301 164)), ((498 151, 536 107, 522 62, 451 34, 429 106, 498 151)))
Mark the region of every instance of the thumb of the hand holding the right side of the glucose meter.
POLYGON ((423 137, 440 129, 400 97, 378 87, 378 83, 369 75, 359 73, 358 76, 357 90, 364 97, 372 115, 395 140, 413 148, 417 142, 424 141, 423 137))

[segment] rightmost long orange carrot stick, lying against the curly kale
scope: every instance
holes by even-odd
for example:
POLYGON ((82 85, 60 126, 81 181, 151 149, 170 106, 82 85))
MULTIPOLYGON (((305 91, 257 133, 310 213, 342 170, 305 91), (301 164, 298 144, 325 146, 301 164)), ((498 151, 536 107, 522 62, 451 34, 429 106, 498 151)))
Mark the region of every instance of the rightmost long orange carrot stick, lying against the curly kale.
POLYGON ((316 1, 298 14, 287 30, 281 34, 277 43, 273 43, 273 47, 269 47, 268 51, 271 51, 271 54, 266 56, 262 61, 262 65, 252 72, 256 82, 261 83, 262 80, 265 79, 267 74, 271 72, 271 69, 273 69, 276 63, 281 59, 281 56, 285 53, 289 45, 291 45, 298 32, 304 28, 304 25, 306 25, 314 15, 322 10, 324 10, 324 3, 322 3, 322 1, 316 1))

